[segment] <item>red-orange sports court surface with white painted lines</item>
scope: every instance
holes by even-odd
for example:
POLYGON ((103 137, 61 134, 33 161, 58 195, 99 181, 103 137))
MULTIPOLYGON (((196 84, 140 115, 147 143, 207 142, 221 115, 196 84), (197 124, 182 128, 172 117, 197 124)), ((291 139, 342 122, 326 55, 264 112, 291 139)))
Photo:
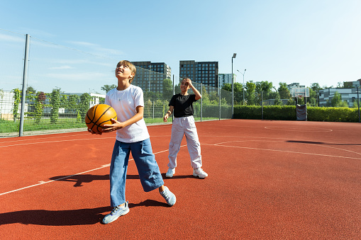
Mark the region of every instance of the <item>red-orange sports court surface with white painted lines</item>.
POLYGON ((113 133, 0 139, 0 239, 361 239, 360 123, 196 126, 209 177, 192 176, 184 139, 165 178, 171 125, 149 126, 177 203, 143 192, 130 161, 130 212, 106 225, 113 133))

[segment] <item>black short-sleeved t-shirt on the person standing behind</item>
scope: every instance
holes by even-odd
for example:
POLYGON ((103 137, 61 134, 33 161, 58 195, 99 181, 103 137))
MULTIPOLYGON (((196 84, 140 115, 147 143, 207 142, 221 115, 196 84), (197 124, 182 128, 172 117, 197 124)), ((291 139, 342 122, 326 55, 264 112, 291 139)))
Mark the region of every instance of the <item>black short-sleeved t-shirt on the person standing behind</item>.
POLYGON ((174 107, 175 118, 182 118, 193 115, 193 104, 196 101, 196 94, 183 96, 181 93, 175 94, 170 100, 170 106, 174 107))

